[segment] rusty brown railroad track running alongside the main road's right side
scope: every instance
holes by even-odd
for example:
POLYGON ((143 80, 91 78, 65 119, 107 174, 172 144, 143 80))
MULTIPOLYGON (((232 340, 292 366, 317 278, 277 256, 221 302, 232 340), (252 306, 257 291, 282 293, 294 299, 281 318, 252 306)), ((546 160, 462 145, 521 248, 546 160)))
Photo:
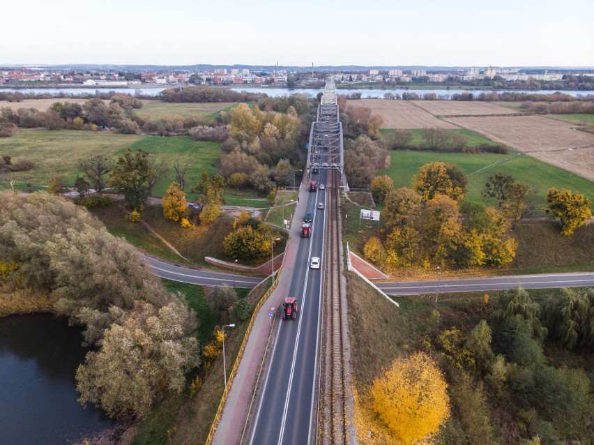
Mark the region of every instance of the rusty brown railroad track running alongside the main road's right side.
POLYGON ((342 236, 339 209, 339 179, 330 171, 327 196, 327 241, 323 292, 323 361, 319 443, 348 444, 347 388, 344 349, 347 342, 347 303, 342 285, 342 236))

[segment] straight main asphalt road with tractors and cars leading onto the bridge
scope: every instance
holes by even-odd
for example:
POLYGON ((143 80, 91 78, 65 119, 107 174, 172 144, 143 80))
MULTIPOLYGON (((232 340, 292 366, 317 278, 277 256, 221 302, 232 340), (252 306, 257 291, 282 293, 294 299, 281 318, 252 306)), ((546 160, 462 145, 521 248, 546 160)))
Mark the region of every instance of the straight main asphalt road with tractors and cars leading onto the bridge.
MULTIPOLYGON (((319 176, 325 183, 326 172, 319 176)), ((288 295, 298 301, 298 316, 278 321, 270 366, 252 417, 250 444, 307 444, 312 437, 323 269, 310 269, 309 261, 322 257, 326 216, 326 210, 316 209, 317 202, 326 206, 326 190, 307 193, 305 211, 314 215, 313 233, 300 239, 288 295)))

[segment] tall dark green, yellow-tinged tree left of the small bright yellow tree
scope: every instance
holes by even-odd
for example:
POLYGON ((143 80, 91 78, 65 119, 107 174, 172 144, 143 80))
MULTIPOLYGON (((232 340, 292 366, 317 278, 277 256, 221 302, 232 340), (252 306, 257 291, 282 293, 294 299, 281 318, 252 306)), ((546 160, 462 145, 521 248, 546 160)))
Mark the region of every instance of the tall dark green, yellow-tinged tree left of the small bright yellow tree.
POLYGON ((139 209, 148 198, 148 179, 155 173, 151 169, 149 153, 131 149, 121 154, 111 170, 109 183, 124 195, 132 209, 139 209))

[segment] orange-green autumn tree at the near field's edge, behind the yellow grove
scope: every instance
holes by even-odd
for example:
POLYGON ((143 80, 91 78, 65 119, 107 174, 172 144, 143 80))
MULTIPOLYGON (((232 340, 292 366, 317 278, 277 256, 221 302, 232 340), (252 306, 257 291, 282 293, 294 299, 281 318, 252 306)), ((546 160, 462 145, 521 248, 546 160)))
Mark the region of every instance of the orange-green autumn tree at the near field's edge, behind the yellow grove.
POLYGON ((413 176, 413 190, 425 202, 435 195, 447 195, 456 201, 462 201, 467 183, 464 172, 455 164, 425 164, 413 176))

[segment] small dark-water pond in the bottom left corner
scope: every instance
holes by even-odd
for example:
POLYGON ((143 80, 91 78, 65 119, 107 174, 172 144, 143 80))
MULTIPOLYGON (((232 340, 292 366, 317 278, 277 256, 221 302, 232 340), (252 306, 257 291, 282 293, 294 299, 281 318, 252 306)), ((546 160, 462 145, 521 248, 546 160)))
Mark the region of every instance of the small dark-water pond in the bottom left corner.
POLYGON ((0 318, 0 444, 68 444, 116 422, 77 402, 75 372, 89 349, 52 315, 0 318))

